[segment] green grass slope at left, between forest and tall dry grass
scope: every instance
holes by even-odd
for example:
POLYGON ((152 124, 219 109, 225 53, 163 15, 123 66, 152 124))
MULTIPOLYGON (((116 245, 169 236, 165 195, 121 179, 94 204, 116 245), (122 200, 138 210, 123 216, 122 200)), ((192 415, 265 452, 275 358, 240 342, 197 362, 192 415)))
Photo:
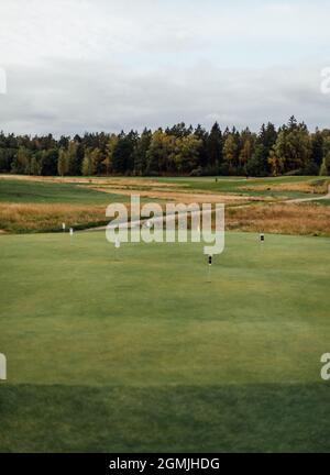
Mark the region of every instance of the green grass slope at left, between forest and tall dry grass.
POLYGON ((113 200, 122 202, 127 197, 75 184, 0 178, 0 202, 109 205, 113 200))

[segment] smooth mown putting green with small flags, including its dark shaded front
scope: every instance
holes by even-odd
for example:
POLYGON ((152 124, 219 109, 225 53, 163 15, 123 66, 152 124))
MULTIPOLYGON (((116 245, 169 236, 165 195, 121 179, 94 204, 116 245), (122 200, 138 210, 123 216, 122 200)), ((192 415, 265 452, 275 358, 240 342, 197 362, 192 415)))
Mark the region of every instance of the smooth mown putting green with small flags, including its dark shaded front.
POLYGON ((0 451, 330 450, 329 239, 0 244, 0 451))

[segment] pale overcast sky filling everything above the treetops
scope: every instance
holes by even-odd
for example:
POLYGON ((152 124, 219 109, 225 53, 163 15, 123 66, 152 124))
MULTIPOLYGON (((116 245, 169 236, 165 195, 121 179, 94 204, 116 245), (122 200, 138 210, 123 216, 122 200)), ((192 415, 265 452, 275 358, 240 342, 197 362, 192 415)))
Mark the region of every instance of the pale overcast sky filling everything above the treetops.
POLYGON ((330 126, 329 19, 329 0, 1 0, 0 129, 330 126))

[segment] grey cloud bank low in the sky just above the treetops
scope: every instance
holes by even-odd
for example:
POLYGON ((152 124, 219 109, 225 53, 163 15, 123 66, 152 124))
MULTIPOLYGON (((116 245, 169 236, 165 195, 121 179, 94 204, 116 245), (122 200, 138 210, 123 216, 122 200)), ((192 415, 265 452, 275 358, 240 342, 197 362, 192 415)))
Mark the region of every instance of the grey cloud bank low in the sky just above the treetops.
POLYGON ((320 92, 320 67, 221 69, 202 62, 136 71, 120 63, 47 60, 8 69, 0 128, 16 133, 75 134, 142 130, 178 121, 210 126, 286 122, 329 125, 330 98, 320 92))

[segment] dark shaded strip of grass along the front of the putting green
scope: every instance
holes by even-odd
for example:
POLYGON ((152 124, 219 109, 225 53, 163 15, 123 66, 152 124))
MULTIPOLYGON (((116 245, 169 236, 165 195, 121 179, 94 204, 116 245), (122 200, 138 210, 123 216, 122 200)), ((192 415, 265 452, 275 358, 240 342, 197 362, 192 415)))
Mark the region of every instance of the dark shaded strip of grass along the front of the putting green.
POLYGON ((328 452, 327 384, 0 385, 1 452, 328 452))

